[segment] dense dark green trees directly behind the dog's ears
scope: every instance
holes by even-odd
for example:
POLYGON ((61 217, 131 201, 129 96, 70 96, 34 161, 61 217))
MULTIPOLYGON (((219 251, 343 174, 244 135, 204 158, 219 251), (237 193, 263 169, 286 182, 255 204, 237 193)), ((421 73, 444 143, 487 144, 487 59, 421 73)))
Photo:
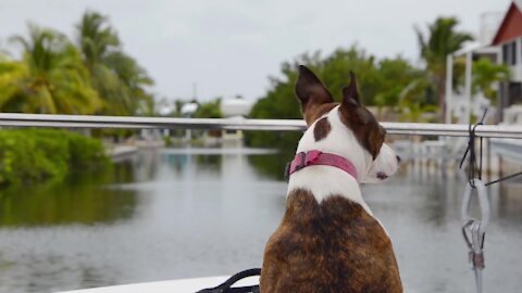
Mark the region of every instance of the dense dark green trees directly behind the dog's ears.
MULTIPOLYGON (((271 89, 256 103, 250 113, 251 117, 301 117, 298 101, 293 98, 299 64, 306 64, 321 76, 334 97, 340 97, 343 87, 348 82, 349 71, 353 71, 357 73, 361 98, 365 105, 397 111, 398 105, 402 103, 403 89, 422 76, 420 69, 401 56, 378 60, 357 46, 337 49, 324 58, 319 52, 303 54, 294 62, 282 65, 282 78, 271 78, 271 89)), ((418 98, 423 104, 434 104, 427 94, 421 93, 418 98)), ((299 137, 299 133, 294 132, 251 132, 247 133, 247 141, 253 145, 279 145, 282 149, 291 149, 299 137)))

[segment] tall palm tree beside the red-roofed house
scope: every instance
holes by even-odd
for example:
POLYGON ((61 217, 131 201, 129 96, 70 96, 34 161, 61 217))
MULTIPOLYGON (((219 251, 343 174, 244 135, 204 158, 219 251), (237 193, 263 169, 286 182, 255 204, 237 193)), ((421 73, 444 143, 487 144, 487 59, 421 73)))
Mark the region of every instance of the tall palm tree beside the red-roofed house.
POLYGON ((461 49, 464 42, 473 40, 471 34, 456 30, 458 24, 455 17, 438 17, 428 25, 427 36, 415 27, 421 59, 425 62, 428 80, 435 86, 440 122, 446 111, 446 56, 461 49))

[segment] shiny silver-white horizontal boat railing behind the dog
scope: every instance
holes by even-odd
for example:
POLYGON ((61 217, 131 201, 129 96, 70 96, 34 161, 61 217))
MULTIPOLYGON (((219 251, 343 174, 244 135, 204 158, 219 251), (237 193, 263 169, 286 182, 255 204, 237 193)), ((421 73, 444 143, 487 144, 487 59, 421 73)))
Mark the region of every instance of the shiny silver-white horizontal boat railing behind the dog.
MULTIPOLYGON (((468 137, 469 125, 427 123, 381 123, 390 135, 468 137)), ((173 118, 141 116, 95 116, 0 113, 0 127, 128 128, 128 129, 223 129, 302 131, 301 119, 173 118)), ((480 125, 484 138, 522 139, 522 125, 480 125)))

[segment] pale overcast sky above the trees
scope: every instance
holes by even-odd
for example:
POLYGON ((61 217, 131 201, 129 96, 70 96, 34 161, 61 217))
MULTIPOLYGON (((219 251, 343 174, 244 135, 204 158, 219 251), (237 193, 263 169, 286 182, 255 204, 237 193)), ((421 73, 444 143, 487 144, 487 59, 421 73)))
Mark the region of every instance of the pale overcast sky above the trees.
POLYGON ((199 100, 266 91, 284 61, 357 42, 380 58, 418 60, 413 25, 438 15, 478 34, 481 14, 510 0, 0 0, 0 46, 26 23, 73 36, 86 9, 110 17, 124 43, 156 80, 161 98, 199 100))

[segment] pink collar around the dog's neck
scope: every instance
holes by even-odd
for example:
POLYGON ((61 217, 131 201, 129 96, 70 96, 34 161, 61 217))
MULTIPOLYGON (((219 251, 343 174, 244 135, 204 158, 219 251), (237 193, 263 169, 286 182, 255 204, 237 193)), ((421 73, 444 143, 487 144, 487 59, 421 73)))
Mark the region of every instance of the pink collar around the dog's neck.
POLYGON ((315 166, 315 165, 325 165, 337 167, 353 177, 357 180, 357 170, 353 164, 348 160, 340 155, 323 153, 321 151, 309 151, 309 152, 301 152, 297 153, 296 157, 291 161, 289 168, 288 168, 288 176, 291 174, 308 167, 308 166, 315 166))

